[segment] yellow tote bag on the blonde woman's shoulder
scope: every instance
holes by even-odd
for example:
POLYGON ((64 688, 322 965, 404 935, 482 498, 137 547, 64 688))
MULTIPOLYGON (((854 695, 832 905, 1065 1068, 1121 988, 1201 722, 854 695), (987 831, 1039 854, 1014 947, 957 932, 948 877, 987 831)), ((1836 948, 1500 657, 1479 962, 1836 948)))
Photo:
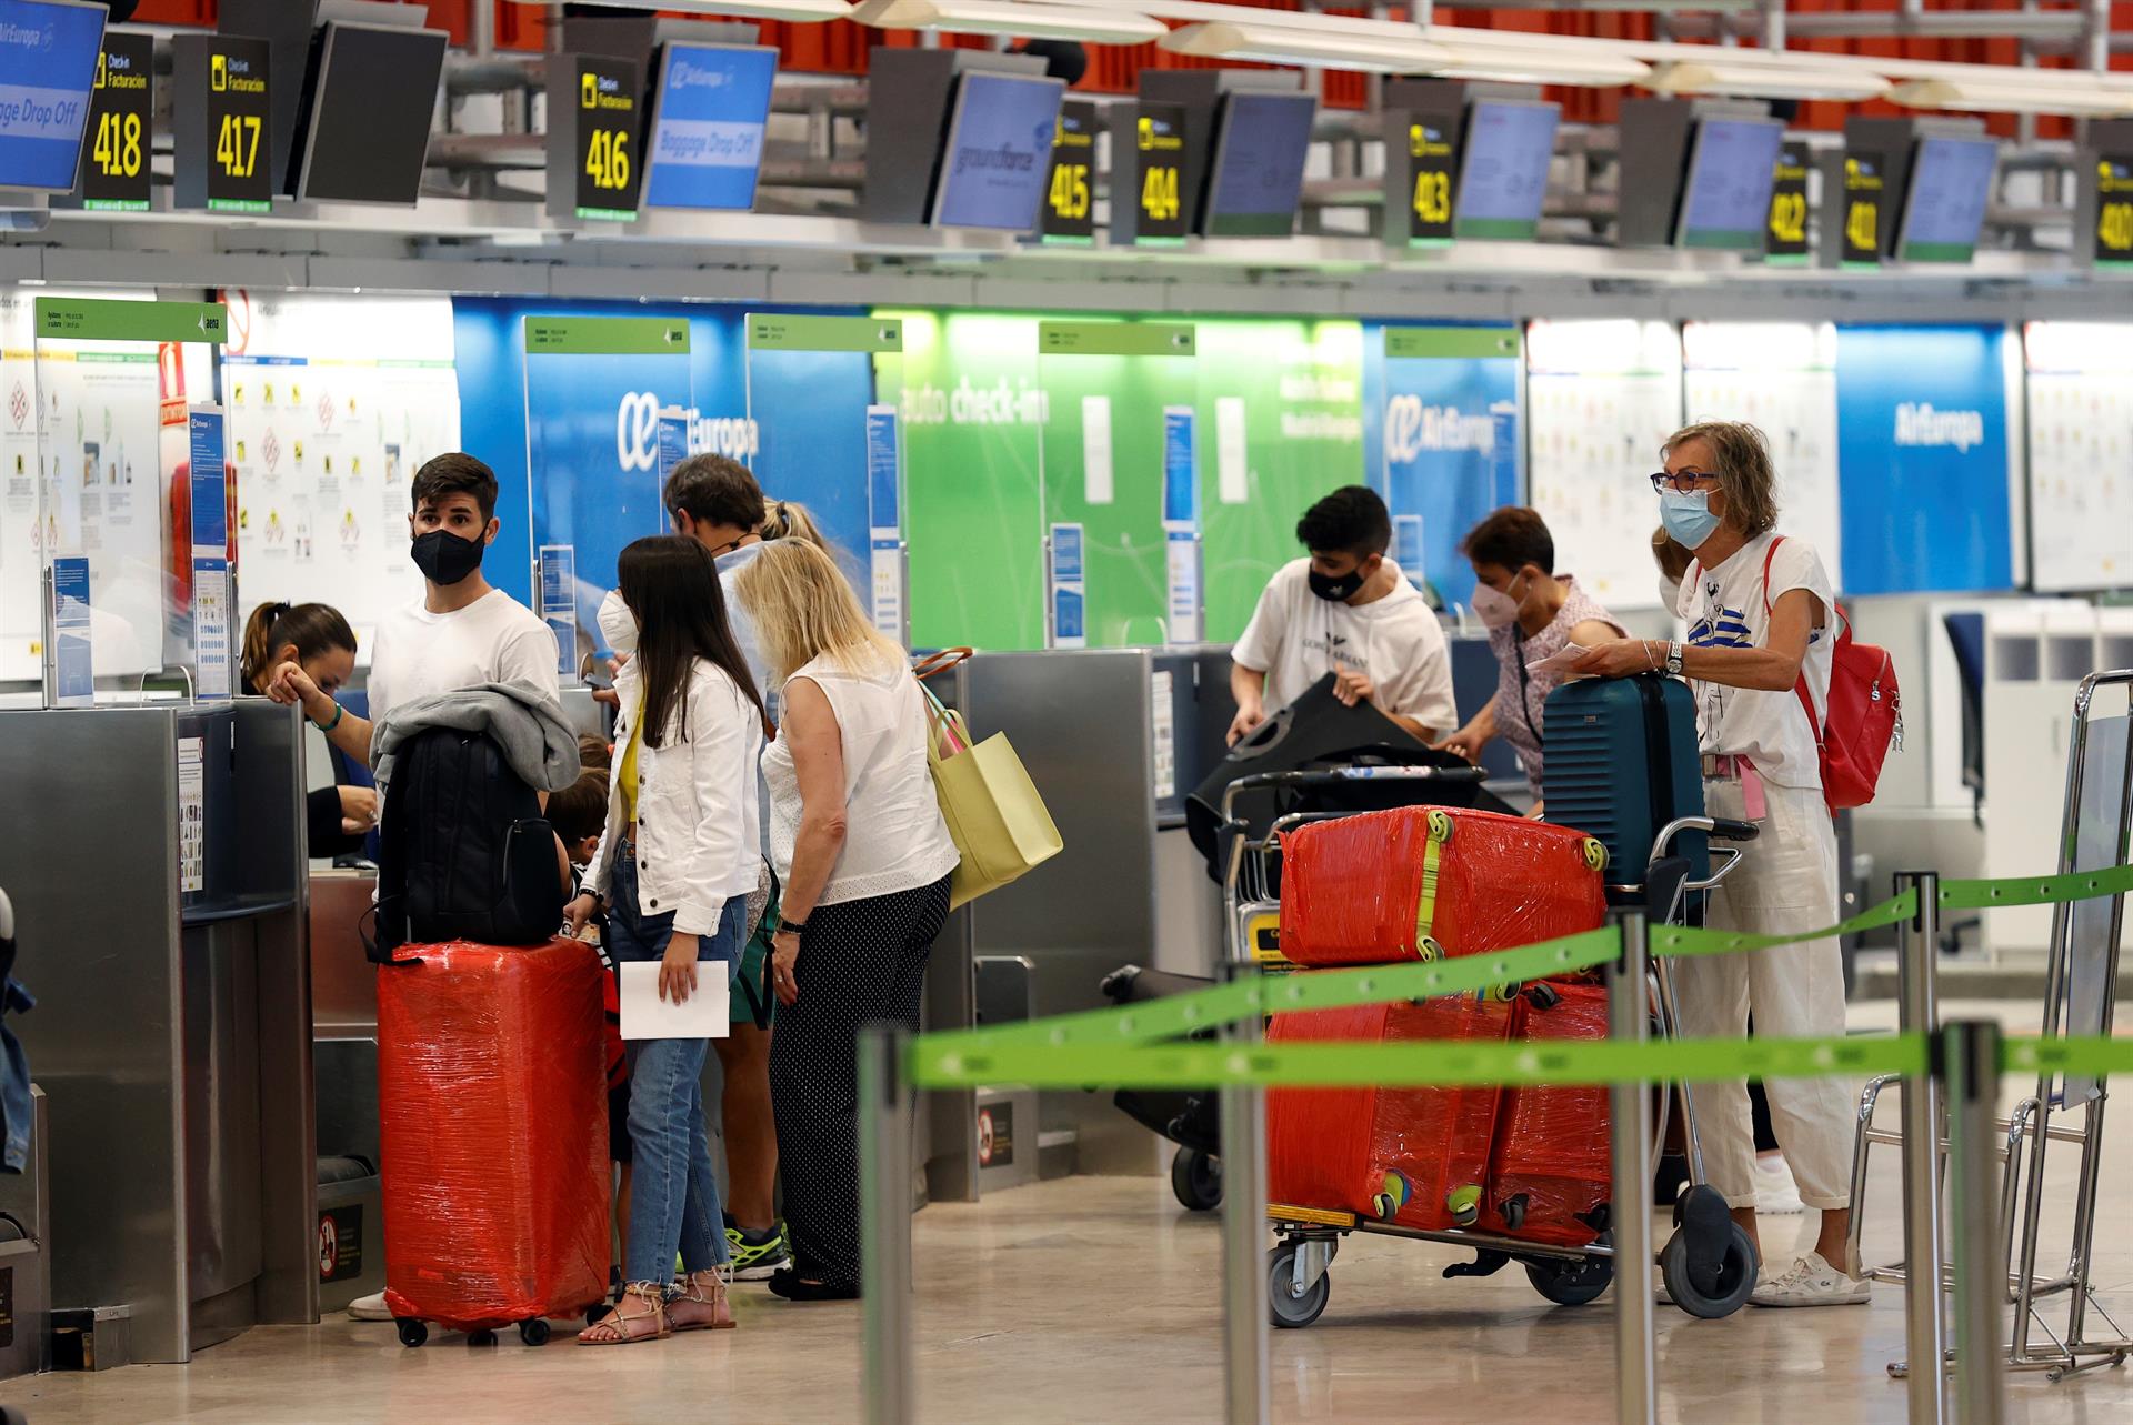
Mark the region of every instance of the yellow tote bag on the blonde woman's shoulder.
POLYGON ((947 834, 962 853, 947 896, 949 909, 956 909, 1041 866, 1066 843, 1005 732, 971 747, 962 712, 943 708, 932 691, 926 691, 926 704, 932 723, 926 764, 947 834))

